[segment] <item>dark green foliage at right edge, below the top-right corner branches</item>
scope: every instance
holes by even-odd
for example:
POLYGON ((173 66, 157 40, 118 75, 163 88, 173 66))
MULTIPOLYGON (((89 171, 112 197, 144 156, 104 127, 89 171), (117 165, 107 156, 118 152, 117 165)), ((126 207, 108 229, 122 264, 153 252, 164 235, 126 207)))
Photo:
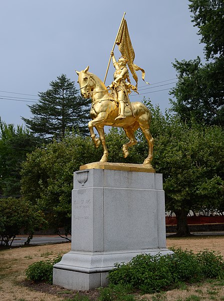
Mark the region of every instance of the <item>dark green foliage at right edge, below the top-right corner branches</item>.
POLYGON ((224 126, 223 65, 223 57, 204 65, 199 57, 173 63, 178 82, 170 91, 175 97, 170 102, 182 121, 190 124, 193 117, 197 122, 224 126))

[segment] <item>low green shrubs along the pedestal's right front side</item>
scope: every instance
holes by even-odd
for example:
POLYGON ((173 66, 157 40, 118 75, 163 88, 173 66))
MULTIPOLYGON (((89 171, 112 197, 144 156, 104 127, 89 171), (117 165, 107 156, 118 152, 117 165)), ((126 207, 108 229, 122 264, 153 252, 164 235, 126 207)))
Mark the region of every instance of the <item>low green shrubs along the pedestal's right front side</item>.
POLYGON ((208 250, 197 254, 181 249, 172 250, 172 255, 141 254, 128 263, 116 264, 116 268, 109 272, 110 283, 130 285, 132 289, 152 293, 177 287, 181 282, 224 277, 223 258, 219 254, 208 250))

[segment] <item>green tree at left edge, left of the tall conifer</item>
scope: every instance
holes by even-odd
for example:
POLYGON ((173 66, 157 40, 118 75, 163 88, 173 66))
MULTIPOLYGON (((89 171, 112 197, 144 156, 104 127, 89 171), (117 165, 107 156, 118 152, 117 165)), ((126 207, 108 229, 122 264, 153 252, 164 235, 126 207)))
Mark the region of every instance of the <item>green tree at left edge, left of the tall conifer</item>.
POLYGON ((38 145, 41 141, 28 129, 0 119, 0 197, 20 195, 21 163, 38 145))

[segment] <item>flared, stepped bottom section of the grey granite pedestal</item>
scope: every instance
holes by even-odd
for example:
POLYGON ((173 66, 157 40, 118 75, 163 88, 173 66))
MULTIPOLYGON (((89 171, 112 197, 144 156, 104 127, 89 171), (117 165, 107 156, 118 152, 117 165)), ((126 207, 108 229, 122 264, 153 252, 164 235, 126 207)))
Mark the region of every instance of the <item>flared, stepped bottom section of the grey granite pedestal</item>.
POLYGON ((129 262, 138 254, 172 254, 162 249, 145 249, 117 252, 70 251, 54 265, 53 284, 74 290, 89 290, 108 284, 108 272, 116 262, 129 262))

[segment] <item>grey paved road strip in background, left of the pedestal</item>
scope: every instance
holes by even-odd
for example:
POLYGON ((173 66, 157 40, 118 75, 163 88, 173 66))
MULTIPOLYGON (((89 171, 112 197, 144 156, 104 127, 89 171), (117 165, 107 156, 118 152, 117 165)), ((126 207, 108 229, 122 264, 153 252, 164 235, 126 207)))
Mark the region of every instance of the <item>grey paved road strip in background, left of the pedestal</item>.
MULTIPOLYGON (((68 236, 71 239, 71 236, 68 236)), ((27 241, 27 237, 16 237, 12 243, 12 246, 23 246, 24 243, 27 241)), ((62 238, 60 236, 41 236, 41 237, 34 237, 30 245, 46 245, 46 244, 57 244, 61 242, 68 242, 67 239, 62 238)))

